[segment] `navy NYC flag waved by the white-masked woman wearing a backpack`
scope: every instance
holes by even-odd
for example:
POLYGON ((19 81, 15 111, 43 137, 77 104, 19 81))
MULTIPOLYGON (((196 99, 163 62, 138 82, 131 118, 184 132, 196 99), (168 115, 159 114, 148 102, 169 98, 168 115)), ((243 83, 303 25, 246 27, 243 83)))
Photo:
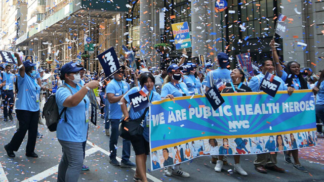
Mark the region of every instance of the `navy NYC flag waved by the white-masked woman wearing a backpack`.
POLYGON ((115 72, 120 68, 117 55, 113 47, 98 55, 97 58, 99 59, 99 62, 107 77, 115 74, 115 72))

